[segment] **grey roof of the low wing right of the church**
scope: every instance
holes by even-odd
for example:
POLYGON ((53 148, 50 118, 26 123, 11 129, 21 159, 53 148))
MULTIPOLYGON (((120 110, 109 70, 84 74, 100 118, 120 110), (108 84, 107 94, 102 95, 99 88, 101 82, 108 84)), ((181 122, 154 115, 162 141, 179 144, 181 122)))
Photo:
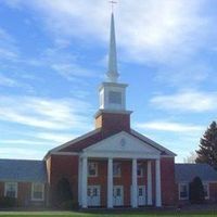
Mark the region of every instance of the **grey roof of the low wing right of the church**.
POLYGON ((208 164, 175 164, 176 182, 191 182, 195 177, 202 181, 217 181, 217 171, 208 164))

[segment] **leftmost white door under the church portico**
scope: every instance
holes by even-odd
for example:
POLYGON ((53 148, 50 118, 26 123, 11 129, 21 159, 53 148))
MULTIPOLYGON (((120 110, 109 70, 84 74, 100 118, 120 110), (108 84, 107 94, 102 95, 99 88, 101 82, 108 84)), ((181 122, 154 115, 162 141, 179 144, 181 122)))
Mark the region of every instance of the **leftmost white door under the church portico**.
POLYGON ((88 206, 100 206, 100 186, 88 186, 88 206))

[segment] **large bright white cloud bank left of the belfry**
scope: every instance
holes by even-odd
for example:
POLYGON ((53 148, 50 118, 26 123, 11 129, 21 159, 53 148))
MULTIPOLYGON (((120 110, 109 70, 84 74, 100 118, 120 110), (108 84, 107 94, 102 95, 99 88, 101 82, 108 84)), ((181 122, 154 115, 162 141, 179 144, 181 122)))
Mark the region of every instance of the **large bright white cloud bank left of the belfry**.
POLYGON ((87 129, 90 111, 88 103, 73 99, 0 97, 0 119, 43 129, 87 129))

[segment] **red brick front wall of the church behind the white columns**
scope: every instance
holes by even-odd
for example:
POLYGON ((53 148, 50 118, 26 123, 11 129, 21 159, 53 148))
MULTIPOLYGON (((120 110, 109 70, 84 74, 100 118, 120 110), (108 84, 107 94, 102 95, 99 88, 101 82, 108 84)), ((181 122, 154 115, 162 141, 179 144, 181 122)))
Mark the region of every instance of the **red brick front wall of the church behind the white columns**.
MULTIPOLYGON (((73 195, 75 202, 78 202, 78 156, 62 156, 52 155, 47 159, 51 164, 51 169, 48 171, 50 179, 50 190, 54 191, 59 180, 61 178, 67 178, 72 184, 73 195)), ((98 176, 88 178, 88 186, 100 186, 101 189, 101 206, 106 207, 107 197, 107 161, 106 159, 92 159, 98 163, 98 176)), ((130 206, 130 187, 131 187, 131 161, 115 161, 122 165, 122 176, 114 178, 114 186, 124 187, 124 205, 130 206)), ((146 162, 142 163, 144 167, 143 177, 138 178, 138 186, 148 184, 146 175, 146 162)), ((175 205, 175 169, 174 158, 163 158, 161 162, 161 177, 162 177, 162 200, 163 205, 173 206, 175 205), (169 189, 169 191, 168 191, 169 189)), ((152 187, 153 187, 153 202, 155 202, 155 163, 152 162, 152 187)), ((52 200, 51 200, 52 201, 52 200)))

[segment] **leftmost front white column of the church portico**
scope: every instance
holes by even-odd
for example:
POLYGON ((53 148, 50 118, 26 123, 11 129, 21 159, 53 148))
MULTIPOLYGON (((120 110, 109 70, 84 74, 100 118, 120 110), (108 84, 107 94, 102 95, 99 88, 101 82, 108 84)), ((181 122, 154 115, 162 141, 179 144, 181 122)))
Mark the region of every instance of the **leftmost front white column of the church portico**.
POLYGON ((81 181, 81 206, 82 208, 88 207, 87 203, 87 191, 88 191, 88 159, 87 157, 82 157, 82 181, 81 181))

